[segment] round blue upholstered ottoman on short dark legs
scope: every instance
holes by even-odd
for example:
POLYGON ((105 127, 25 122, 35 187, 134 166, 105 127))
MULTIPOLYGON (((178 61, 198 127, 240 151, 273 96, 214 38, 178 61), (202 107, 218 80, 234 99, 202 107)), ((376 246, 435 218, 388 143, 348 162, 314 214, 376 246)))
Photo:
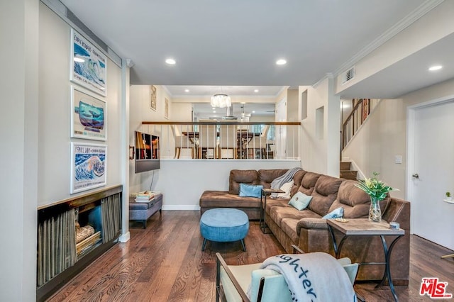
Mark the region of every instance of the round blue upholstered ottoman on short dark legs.
POLYGON ((205 250, 206 240, 231 242, 241 240, 246 251, 244 237, 248 235, 249 218, 236 208, 212 208, 200 218, 200 233, 204 237, 201 250, 205 250))

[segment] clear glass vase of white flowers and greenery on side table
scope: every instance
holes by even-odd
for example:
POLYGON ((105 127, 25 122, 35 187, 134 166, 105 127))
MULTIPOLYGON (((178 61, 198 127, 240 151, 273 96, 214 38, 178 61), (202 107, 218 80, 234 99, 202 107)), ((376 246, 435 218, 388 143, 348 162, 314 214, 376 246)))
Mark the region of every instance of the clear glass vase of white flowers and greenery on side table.
POLYGON ((370 196, 369 220, 380 223, 382 221, 382 211, 380 209, 380 201, 387 197, 390 191, 398 191, 391 186, 384 184, 383 181, 377 179, 380 173, 373 172, 373 177, 369 179, 361 179, 358 186, 362 191, 365 191, 370 196))

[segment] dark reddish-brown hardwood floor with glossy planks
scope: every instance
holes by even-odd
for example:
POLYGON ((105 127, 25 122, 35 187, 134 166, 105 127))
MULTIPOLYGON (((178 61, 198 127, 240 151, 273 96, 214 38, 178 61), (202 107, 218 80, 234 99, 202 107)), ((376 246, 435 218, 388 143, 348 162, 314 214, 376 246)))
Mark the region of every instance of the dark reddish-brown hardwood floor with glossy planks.
MULTIPOLYGON (((131 240, 112 247, 48 301, 214 301, 216 251, 228 264, 262 262, 284 252, 273 235, 260 232, 258 222, 250 223, 247 252, 240 242, 209 242, 201 252, 199 218, 199 211, 162 211, 145 230, 131 225, 131 240)), ((454 293, 454 259, 441 259, 451 253, 412 235, 410 281, 396 286, 399 300, 431 301, 419 296, 423 277, 448 282, 447 292, 454 293)), ((392 301, 387 286, 356 284, 355 289, 367 301, 392 301)))

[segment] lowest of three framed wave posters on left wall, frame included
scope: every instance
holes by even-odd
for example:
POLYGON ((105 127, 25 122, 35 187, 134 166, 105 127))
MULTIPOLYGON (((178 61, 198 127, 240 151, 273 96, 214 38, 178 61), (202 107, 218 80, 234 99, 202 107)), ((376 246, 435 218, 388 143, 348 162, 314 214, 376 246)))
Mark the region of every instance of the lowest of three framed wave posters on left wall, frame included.
POLYGON ((106 150, 106 145, 71 142, 71 194, 106 185, 106 150))

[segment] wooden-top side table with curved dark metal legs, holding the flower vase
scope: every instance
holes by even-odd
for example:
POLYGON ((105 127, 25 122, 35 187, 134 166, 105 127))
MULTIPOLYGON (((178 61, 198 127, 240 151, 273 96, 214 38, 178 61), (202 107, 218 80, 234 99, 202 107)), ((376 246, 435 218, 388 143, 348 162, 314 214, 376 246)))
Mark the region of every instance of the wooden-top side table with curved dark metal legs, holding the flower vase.
POLYGON ((389 260, 391 258, 391 252, 392 248, 394 247, 395 243, 399 238, 401 238, 403 235, 405 235, 405 230, 402 230, 402 228, 399 229, 392 229, 389 228, 389 223, 386 221, 382 220, 380 223, 372 223, 369 221, 367 218, 355 218, 355 219, 349 219, 347 222, 341 222, 335 219, 328 219, 326 220, 328 223, 328 230, 331 234, 331 238, 333 239, 333 247, 334 247, 334 252, 336 253, 336 258, 339 258, 339 255, 341 255, 341 249, 342 245, 345 242, 345 239, 347 239, 350 236, 380 236, 380 239, 382 240, 382 245, 383 245, 383 250, 384 250, 384 262, 366 262, 366 263, 361 263, 361 264, 384 264, 384 274, 382 277, 382 281, 380 281, 375 288, 382 286, 384 284, 384 281, 388 279, 389 283, 389 289, 391 289, 392 296, 394 297, 394 301, 399 301, 399 298, 397 298, 396 291, 394 290, 394 284, 392 284, 392 277, 391 277, 391 271, 389 269, 389 260), (336 237, 334 236, 334 230, 338 230, 343 234, 343 237, 341 239, 341 242, 339 242, 339 245, 336 243, 336 237), (392 240, 391 245, 389 245, 389 248, 387 246, 386 240, 384 240, 384 236, 397 236, 392 240))

